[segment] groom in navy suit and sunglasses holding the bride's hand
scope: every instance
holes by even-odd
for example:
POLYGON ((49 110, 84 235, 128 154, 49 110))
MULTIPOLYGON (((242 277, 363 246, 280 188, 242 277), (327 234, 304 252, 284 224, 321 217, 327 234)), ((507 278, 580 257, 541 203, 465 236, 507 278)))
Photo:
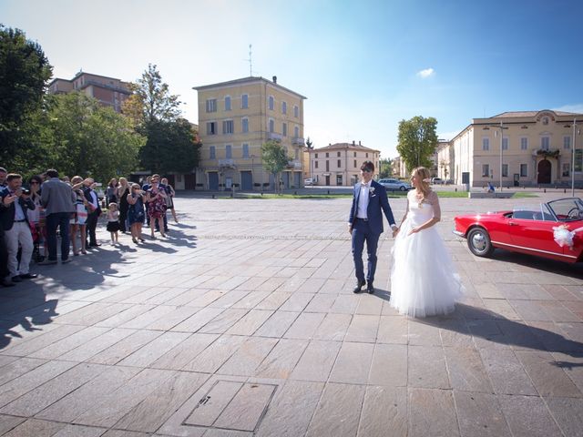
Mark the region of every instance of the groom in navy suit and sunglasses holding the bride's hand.
POLYGON ((393 237, 399 231, 394 222, 393 211, 386 197, 386 190, 373 180, 374 164, 364 161, 361 166, 361 182, 354 186, 353 207, 350 209, 348 231, 353 236, 353 258, 356 273, 356 286, 353 292, 360 293, 366 285, 366 291, 374 292, 374 270, 376 269, 376 247, 383 233, 383 214, 393 229, 393 237), (364 280, 363 248, 366 241, 368 255, 368 272, 364 280))

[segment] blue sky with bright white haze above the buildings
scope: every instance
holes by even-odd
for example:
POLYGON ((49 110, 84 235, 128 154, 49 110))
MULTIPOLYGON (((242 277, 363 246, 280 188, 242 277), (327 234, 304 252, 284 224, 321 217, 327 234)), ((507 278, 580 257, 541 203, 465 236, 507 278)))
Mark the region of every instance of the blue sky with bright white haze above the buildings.
POLYGON ((394 158, 398 122, 437 118, 450 139, 505 111, 583 113, 580 0, 0 0, 56 77, 136 80, 157 64, 184 116, 192 86, 278 76, 308 99, 315 147, 362 141, 394 158))

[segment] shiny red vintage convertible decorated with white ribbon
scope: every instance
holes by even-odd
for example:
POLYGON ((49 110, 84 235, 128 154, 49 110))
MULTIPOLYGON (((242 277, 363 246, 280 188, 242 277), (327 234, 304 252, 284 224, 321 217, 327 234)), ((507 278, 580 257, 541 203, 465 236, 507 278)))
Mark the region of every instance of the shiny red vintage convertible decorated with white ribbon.
POLYGON ((469 214, 454 220, 454 233, 467 239, 468 248, 478 257, 500 248, 571 263, 583 260, 580 198, 559 198, 537 207, 469 214), (557 242, 557 229, 570 234, 568 243, 557 242))

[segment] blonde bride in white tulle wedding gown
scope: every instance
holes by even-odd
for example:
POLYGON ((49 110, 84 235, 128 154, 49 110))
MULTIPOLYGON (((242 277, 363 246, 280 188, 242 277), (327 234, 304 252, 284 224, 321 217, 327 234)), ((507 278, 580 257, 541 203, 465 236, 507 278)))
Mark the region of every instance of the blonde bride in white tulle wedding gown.
POLYGON ((452 312, 463 294, 451 255, 435 229, 439 198, 429 188, 427 168, 415 168, 407 208, 394 240, 391 306, 401 314, 426 317, 452 312))

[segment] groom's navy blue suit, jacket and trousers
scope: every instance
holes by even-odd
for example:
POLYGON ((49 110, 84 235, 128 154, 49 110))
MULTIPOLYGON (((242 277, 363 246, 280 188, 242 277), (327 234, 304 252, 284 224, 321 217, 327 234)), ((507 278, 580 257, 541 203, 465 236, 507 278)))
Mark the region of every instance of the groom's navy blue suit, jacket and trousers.
POLYGON ((364 241, 366 241, 366 252, 368 255, 366 281, 372 287, 374 271, 376 270, 376 248, 379 237, 384 231, 383 212, 391 227, 393 225, 396 226, 396 224, 394 222, 393 211, 386 196, 386 189, 375 180, 371 180, 371 187, 368 189, 366 218, 358 217, 359 198, 362 192, 361 186, 362 184, 360 182, 354 186, 353 206, 350 209, 348 222, 351 226, 353 236, 353 259, 356 279, 359 283, 364 282, 363 249, 364 241))

